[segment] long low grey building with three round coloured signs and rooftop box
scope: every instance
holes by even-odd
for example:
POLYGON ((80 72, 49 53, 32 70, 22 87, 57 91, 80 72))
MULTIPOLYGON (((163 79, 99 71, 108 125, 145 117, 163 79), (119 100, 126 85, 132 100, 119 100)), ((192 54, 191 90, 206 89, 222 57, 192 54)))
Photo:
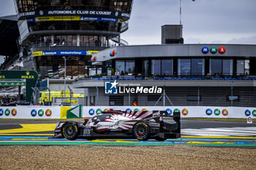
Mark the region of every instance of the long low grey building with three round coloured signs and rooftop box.
POLYGON ((162 26, 162 45, 102 50, 91 61, 105 76, 74 87, 89 89, 85 105, 255 107, 256 45, 183 42, 182 26, 162 26))

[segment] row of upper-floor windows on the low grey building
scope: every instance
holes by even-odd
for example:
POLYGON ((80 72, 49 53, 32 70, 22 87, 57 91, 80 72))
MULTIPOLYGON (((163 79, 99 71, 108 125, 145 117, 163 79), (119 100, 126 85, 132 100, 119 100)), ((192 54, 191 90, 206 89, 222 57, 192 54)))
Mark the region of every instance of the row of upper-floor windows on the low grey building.
POLYGON ((118 69, 121 74, 142 73, 144 77, 204 77, 208 73, 217 77, 233 77, 249 75, 250 69, 248 59, 237 60, 235 68, 234 59, 227 58, 147 58, 114 62, 116 66, 112 69, 118 69), (134 72, 135 66, 137 69, 141 66, 139 72, 134 72))

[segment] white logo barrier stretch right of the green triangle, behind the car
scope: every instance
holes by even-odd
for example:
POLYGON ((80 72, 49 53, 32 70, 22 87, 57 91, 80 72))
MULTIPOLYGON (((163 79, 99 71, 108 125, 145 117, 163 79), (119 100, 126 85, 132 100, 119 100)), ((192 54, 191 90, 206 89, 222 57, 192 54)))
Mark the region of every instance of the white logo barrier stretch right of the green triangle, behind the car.
POLYGON ((256 118, 256 107, 83 107, 83 117, 99 115, 102 111, 166 110, 168 115, 181 112, 181 117, 256 118))

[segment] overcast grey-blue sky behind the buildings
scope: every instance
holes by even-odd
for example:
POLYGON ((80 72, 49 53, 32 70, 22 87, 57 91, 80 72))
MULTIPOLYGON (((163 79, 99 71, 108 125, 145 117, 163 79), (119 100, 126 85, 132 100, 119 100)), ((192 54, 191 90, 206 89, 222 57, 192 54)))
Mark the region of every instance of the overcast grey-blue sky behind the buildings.
MULTIPOLYGON (((0 16, 15 14, 12 0, 0 0, 0 16)), ((182 0, 184 43, 256 45, 255 0, 182 0)), ((179 0, 134 0, 129 45, 161 43, 161 26, 179 24, 179 0)))

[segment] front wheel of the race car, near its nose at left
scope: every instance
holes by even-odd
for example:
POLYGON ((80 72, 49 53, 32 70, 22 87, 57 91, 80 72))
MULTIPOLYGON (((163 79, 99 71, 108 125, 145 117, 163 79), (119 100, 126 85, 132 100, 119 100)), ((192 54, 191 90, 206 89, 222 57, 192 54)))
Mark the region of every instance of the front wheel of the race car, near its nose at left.
POLYGON ((61 130, 62 136, 69 140, 78 138, 78 125, 75 123, 66 123, 61 130))

